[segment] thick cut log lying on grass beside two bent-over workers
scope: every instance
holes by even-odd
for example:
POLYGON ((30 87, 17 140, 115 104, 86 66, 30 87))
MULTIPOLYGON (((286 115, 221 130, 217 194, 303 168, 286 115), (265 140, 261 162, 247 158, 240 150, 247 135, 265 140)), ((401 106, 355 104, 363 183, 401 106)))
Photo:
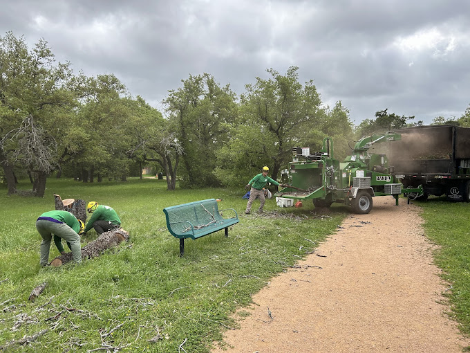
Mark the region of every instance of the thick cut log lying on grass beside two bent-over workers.
MULTIPOLYGON (((129 232, 122 228, 104 232, 96 240, 89 242, 82 248, 82 260, 98 257, 104 251, 118 246, 121 242, 124 242, 124 240, 129 242, 129 232)), ((72 260, 72 253, 65 253, 64 255, 55 257, 55 259, 50 262, 50 266, 62 266, 72 260)))

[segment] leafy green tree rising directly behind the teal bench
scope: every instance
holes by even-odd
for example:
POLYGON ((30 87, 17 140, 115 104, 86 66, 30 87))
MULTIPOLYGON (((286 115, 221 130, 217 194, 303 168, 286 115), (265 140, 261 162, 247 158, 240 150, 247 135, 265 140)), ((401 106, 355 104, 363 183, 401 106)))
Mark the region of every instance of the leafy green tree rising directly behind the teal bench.
POLYGON ((236 116, 236 101, 229 85, 220 87, 207 73, 190 76, 164 100, 171 131, 182 147, 182 183, 188 188, 218 185, 212 171, 220 147, 236 116))

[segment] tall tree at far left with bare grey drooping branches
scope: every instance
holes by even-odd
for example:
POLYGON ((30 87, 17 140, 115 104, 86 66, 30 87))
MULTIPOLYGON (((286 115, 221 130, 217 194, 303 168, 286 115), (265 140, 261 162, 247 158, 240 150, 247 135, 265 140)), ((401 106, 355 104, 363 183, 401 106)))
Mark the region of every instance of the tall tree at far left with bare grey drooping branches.
POLYGON ((29 50, 23 37, 0 37, 0 164, 9 194, 16 191, 12 167, 20 162, 32 175, 35 194, 44 196, 57 163, 55 130, 48 125, 75 106, 72 78, 70 63, 56 64, 44 39, 29 50))

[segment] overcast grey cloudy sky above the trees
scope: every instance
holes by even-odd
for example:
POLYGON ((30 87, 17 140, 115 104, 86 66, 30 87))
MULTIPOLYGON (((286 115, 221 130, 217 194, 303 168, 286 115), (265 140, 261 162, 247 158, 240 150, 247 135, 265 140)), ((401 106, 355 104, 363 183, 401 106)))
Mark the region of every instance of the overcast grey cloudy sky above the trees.
POLYGON ((470 104, 467 0, 0 0, 0 35, 44 38, 75 73, 114 74, 162 110, 209 73, 237 94, 266 69, 314 80, 356 125, 388 108, 431 123, 470 104))

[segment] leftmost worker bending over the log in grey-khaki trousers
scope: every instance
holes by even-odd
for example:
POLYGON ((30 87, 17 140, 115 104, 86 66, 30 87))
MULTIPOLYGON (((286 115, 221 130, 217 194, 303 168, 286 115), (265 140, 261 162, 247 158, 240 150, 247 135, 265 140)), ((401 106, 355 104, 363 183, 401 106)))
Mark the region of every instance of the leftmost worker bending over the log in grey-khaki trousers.
MULTIPOLYGON (((79 234, 83 233, 84 228, 85 224, 68 211, 54 210, 40 215, 36 221, 36 229, 42 237, 41 259, 39 260, 41 266, 48 264, 50 241, 53 235, 57 248, 59 248, 60 240, 64 239, 71 248, 73 260, 77 263, 82 262, 79 234), (56 237, 59 239, 59 244, 57 244, 56 237)), ((63 253, 62 244, 60 244, 60 248, 59 251, 63 253)))

